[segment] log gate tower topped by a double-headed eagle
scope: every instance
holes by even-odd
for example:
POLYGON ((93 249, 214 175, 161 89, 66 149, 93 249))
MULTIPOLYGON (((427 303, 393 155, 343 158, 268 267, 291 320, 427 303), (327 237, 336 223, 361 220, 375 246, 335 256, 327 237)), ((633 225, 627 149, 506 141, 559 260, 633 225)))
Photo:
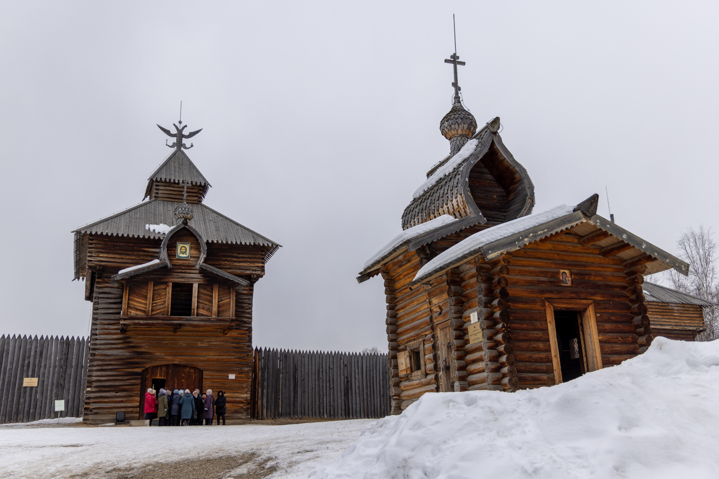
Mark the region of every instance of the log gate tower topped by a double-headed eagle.
POLYGON ((173 152, 142 203, 73 232, 93 304, 86 422, 142 418, 150 387, 221 389, 227 419, 249 418, 252 292, 280 245, 203 203, 210 184, 183 151, 200 130, 179 123, 160 127, 173 152))

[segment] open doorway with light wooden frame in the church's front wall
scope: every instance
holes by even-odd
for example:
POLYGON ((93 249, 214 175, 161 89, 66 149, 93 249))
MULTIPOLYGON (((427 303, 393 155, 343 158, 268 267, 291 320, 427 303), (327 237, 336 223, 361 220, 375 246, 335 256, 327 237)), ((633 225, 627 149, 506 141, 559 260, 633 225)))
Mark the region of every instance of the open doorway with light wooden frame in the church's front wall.
MULTIPOLYGON (((574 356, 572 354, 574 347, 577 348, 576 355, 579 356, 577 359, 581 361, 582 373, 601 369, 602 351, 599 345, 594 302, 590 299, 545 299, 544 305, 554 383, 562 383, 562 367, 564 366, 564 370, 567 371, 567 358, 572 359, 574 356), (557 310, 556 314, 555 310, 557 310), (576 315, 576 322, 573 325, 576 325, 577 331, 574 336, 578 336, 578 338, 571 338, 571 334, 558 335, 558 331, 561 332, 563 327, 567 328, 566 324, 559 324, 559 310, 576 315), (555 316, 557 316, 557 320, 555 320, 555 316), (572 342, 573 339, 576 341, 572 342)), ((567 317, 567 315, 562 315, 562 317, 567 317)))

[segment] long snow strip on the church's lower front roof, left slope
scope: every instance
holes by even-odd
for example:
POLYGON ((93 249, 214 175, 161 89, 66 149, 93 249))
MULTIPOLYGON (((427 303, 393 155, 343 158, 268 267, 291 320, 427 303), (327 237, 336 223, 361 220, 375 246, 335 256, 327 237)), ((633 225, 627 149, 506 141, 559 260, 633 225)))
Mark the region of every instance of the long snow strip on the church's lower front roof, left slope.
POLYGON ((528 230, 529 228, 541 225, 547 221, 562 218, 564 215, 569 215, 569 213, 574 211, 574 208, 576 207, 573 205, 558 205, 550 210, 522 216, 521 218, 516 218, 515 220, 508 221, 507 223, 500 223, 499 225, 479 231, 472 236, 468 236, 451 248, 442 251, 427 264, 422 266, 421 269, 417 271, 416 276, 414 276, 414 281, 417 281, 417 279, 421 278, 425 274, 440 268, 444 264, 449 264, 455 259, 464 256, 470 251, 475 251, 482 246, 485 246, 487 243, 506 238, 507 236, 515 233, 520 233, 521 231, 528 230))

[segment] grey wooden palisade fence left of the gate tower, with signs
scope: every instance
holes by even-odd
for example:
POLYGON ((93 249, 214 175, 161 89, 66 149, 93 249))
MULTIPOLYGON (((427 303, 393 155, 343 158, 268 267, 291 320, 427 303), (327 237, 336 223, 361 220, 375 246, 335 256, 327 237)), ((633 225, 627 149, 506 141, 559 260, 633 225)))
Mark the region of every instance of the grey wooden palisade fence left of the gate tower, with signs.
POLYGON ((82 417, 88 341, 2 335, 0 337, 0 424, 57 417, 82 417), (23 386, 37 378, 37 386, 23 386), (65 411, 55 412, 55 400, 65 411))

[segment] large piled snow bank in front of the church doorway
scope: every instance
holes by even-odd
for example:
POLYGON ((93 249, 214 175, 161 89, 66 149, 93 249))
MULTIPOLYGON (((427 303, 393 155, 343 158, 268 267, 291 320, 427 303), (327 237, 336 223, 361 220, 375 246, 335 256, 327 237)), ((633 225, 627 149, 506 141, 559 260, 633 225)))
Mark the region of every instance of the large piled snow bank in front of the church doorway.
POLYGON ((315 479, 719 477, 719 341, 550 388, 425 394, 370 424, 315 479))

